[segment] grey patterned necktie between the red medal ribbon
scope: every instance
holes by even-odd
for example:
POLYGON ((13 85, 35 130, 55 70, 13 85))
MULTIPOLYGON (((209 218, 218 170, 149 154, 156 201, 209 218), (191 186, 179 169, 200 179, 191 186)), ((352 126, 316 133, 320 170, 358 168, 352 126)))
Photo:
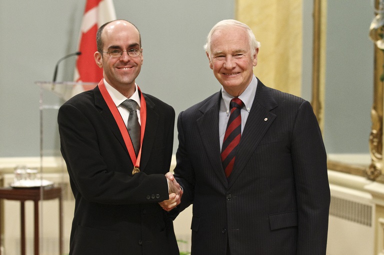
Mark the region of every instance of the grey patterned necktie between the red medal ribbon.
POLYGON ((125 107, 129 111, 128 121, 126 125, 126 129, 128 130, 128 134, 130 140, 132 141, 134 153, 138 154, 140 150, 140 124, 138 123, 138 117, 136 112, 137 103, 132 99, 126 99, 121 103, 121 106, 125 107))

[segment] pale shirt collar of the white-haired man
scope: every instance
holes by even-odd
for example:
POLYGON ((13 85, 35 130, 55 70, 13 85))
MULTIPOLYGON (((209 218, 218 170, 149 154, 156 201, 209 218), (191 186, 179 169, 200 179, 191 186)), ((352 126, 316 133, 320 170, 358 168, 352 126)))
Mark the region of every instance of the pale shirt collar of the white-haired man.
MULTIPOLYGON (((238 96, 238 98, 244 103, 245 109, 249 112, 252 107, 252 103, 254 100, 254 95, 256 94, 257 88, 257 79, 255 76, 252 77, 249 85, 245 88, 245 90, 238 96)), ((226 115, 229 115, 229 103, 233 96, 229 95, 223 87, 221 87, 221 96, 224 101, 224 107, 226 111, 226 115)))

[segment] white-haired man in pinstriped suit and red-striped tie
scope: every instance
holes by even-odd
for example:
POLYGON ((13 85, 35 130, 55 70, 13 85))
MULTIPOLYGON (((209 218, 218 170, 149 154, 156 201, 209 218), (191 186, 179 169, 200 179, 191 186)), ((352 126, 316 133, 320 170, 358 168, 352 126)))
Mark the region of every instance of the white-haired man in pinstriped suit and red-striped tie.
POLYGON ((326 154, 309 102, 253 75, 259 43, 247 25, 218 22, 205 49, 221 90, 177 121, 192 254, 325 255, 326 154))

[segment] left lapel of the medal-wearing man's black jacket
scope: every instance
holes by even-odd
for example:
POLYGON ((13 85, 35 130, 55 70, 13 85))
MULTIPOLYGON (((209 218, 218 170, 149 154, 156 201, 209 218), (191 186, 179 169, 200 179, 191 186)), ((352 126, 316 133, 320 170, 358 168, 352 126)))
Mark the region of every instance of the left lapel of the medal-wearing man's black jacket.
POLYGON ((112 131, 112 133, 114 134, 118 142, 121 144, 122 148, 125 150, 126 154, 128 154, 128 150, 125 146, 124 139, 122 138, 120 130, 118 129, 117 123, 114 120, 113 115, 110 112, 104 98, 102 97, 101 92, 98 89, 98 86, 96 86, 93 89, 93 92, 94 92, 94 104, 96 107, 100 108, 100 115, 104 118, 105 125, 109 127, 109 129, 112 131))

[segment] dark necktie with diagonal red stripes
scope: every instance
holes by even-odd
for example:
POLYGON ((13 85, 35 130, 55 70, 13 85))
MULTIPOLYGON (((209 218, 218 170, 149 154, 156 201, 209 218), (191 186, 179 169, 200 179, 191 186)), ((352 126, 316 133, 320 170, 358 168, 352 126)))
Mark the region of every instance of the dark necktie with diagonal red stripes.
POLYGON ((230 115, 228 124, 226 125, 225 135, 221 147, 222 167, 225 176, 228 178, 233 169, 234 159, 236 156, 237 145, 241 137, 241 108, 243 102, 237 97, 230 100, 230 115))

